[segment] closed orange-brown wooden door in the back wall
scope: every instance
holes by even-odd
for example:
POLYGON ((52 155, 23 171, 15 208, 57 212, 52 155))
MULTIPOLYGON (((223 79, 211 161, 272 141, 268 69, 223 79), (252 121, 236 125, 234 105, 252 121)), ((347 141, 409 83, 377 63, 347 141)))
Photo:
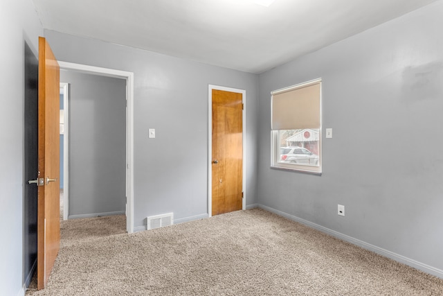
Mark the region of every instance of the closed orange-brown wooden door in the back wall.
POLYGON ((242 209, 242 94, 213 89, 212 215, 242 209))

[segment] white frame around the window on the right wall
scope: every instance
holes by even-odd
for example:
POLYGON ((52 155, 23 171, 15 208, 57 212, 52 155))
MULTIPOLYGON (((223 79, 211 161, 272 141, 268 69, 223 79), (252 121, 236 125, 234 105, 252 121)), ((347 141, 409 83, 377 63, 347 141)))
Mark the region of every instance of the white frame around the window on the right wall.
MULTIPOLYGON (((272 130, 271 128, 271 168, 276 169, 282 169, 287 171, 298 171, 302 173, 311 173, 314 175, 321 175, 323 171, 323 157, 322 157, 322 150, 323 150, 323 135, 322 135, 322 79, 318 78, 315 80, 310 80, 307 82, 302 82, 297 85, 292 85, 291 87, 285 87, 283 89, 278 89, 273 92, 271 92, 271 121, 272 121, 272 106, 273 106, 273 96, 275 94, 281 94, 283 92, 290 92, 296 89, 301 89, 302 87, 309 87, 310 85, 320 85, 320 105, 319 105, 319 115, 320 115, 320 126, 318 127, 318 166, 309 166, 304 164, 285 164, 279 162, 280 159, 280 137, 279 137, 279 130, 272 130)), ((293 128, 294 130, 303 130, 304 128, 293 128)), ((316 130, 316 128, 312 128, 316 130)))

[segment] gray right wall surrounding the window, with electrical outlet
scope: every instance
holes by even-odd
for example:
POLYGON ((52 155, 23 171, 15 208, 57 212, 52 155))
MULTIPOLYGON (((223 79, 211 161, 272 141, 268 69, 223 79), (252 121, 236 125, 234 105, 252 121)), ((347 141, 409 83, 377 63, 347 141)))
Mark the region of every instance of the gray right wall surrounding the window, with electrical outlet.
POLYGON ((437 1, 260 75, 259 204, 443 276, 442 15, 437 1), (334 129, 323 175, 271 169, 270 92, 314 78, 334 129))

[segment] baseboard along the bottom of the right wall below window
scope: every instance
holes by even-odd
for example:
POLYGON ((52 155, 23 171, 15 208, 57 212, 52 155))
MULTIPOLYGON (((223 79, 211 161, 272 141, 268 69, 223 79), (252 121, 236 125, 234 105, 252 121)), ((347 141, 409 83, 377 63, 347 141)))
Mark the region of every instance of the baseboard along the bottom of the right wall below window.
POLYGON ((298 218, 296 216, 292 216, 290 214, 284 213, 283 211, 279 211, 279 210, 273 209, 271 207, 266 207, 262 204, 259 204, 258 207, 260 209, 270 211, 271 213, 277 214, 277 215, 282 216, 284 218, 288 218, 289 220, 293 220, 298 223, 307 225, 309 227, 319 230, 320 232, 325 232, 326 234, 329 234, 329 235, 334 236, 336 238, 340 238, 343 241, 347 241, 347 242, 352 243, 354 245, 358 245, 359 247, 363 247, 363 249, 370 250, 370 251, 380 254, 382 256, 386 256, 392 260, 395 260, 400 263, 404 263, 404 264, 409 265, 413 268, 417 268, 418 270, 422 270, 424 272, 427 272, 430 275, 435 275, 435 277, 440 277, 443 279, 443 270, 441 270, 439 268, 434 268, 433 266, 421 263, 419 261, 415 261, 414 259, 410 259, 410 258, 402 256, 400 254, 390 252, 390 251, 385 250, 381 247, 377 247, 376 245, 371 245, 370 243, 366 243, 365 241, 360 241, 359 239, 353 238, 352 236, 347 236, 346 234, 341 234, 340 232, 336 232, 335 230, 323 227, 323 226, 318 225, 316 223, 311 223, 308 220, 298 218))

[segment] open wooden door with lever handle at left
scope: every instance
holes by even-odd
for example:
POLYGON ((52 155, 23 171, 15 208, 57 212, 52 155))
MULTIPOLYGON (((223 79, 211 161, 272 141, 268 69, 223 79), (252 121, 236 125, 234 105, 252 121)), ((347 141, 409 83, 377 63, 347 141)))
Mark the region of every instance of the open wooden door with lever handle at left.
POLYGON ((37 288, 48 282, 60 248, 60 71, 51 47, 39 37, 39 136, 37 288))

